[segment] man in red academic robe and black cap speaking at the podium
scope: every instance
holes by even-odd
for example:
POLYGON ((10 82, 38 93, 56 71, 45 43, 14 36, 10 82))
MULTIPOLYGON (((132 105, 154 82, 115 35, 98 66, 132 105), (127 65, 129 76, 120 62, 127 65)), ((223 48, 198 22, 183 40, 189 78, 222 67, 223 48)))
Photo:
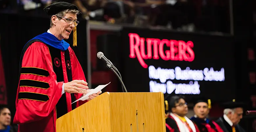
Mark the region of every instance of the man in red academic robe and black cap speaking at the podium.
POLYGON ((13 120, 19 124, 18 132, 55 132, 56 119, 101 93, 71 104, 89 92, 82 67, 63 40, 75 32, 80 11, 66 2, 44 10, 52 16, 50 29, 30 40, 21 54, 13 120))

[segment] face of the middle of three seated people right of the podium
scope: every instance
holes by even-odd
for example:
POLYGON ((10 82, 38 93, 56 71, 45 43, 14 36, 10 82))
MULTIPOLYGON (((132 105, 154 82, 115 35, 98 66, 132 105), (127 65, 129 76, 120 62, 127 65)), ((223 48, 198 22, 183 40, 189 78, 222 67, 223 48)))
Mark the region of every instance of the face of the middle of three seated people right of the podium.
POLYGON ((194 107, 196 116, 200 119, 205 119, 209 114, 208 104, 205 102, 199 102, 194 107))

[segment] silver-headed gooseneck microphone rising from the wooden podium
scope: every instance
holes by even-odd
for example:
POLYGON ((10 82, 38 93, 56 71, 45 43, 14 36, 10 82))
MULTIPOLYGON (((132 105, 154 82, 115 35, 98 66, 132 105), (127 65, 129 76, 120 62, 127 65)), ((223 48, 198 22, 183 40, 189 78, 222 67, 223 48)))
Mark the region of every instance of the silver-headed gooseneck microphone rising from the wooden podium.
POLYGON ((102 61, 104 61, 104 62, 107 64, 107 67, 115 73, 115 75, 117 76, 117 78, 119 79, 119 81, 120 81, 120 83, 121 83, 121 85, 122 85, 122 90, 123 90, 123 92, 124 92, 124 90, 125 90, 125 92, 127 92, 126 87, 125 87, 125 85, 123 84, 123 81, 122 81, 122 76, 121 76, 121 74, 119 73, 119 71, 117 70, 117 68, 112 64, 112 62, 111 62, 110 60, 108 60, 108 59, 104 56, 104 54, 103 54, 102 52, 98 52, 98 53, 97 53, 97 57, 98 57, 99 59, 101 59, 102 61), (118 73, 118 74, 117 74, 117 73, 118 73))

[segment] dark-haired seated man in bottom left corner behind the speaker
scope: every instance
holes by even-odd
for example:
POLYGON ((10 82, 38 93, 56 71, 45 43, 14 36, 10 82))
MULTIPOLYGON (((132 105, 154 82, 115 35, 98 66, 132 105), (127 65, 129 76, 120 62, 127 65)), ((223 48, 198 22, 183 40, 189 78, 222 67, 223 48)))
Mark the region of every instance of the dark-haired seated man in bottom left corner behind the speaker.
POLYGON ((16 132, 11 126, 11 111, 6 106, 0 107, 0 132, 16 132))

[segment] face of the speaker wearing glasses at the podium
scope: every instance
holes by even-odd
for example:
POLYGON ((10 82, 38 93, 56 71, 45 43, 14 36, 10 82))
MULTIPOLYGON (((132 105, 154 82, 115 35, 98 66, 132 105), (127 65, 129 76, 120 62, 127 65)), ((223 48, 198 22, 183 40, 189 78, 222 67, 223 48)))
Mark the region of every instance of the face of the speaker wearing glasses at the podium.
MULTIPOLYGON (((77 20, 76 14, 74 13, 67 13, 63 17, 68 18, 70 21, 77 20)), ((74 22, 69 24, 65 18, 55 19, 56 30, 60 39, 68 39, 71 31, 75 28, 74 22)))

